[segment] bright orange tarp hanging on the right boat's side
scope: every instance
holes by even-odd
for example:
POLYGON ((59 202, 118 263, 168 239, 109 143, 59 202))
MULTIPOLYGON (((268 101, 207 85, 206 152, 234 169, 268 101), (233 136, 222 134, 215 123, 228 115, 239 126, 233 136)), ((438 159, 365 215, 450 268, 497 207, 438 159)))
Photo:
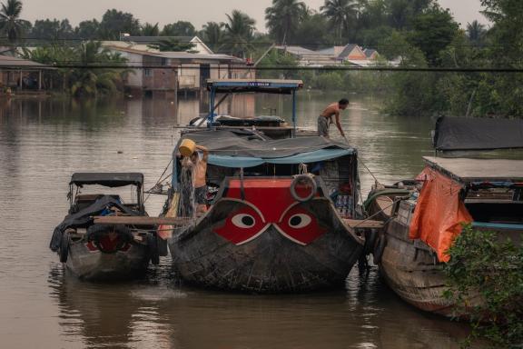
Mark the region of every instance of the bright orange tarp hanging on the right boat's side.
POLYGON ((410 239, 420 239, 449 262, 446 251, 461 233, 461 224, 472 222, 465 204, 459 200, 462 185, 425 167, 418 179, 425 181, 410 223, 410 239))

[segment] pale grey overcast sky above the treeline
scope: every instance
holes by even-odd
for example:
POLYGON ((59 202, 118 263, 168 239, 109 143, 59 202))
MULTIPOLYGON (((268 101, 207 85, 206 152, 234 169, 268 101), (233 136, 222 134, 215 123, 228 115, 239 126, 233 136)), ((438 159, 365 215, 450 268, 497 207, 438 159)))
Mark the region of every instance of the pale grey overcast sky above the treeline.
MULTIPOLYGON (((101 19, 109 8, 130 12, 142 23, 151 22, 160 25, 178 20, 192 22, 197 29, 207 21, 225 21, 225 14, 239 9, 254 17, 259 30, 264 31, 264 10, 271 5, 271 0, 22 0, 22 17, 32 22, 44 18, 68 18, 73 25, 85 19, 101 19)), ((324 0, 304 0, 313 9, 323 5, 324 0)), ((439 4, 449 8, 463 26, 478 19, 487 23, 479 14, 479 0, 439 0, 439 4)))

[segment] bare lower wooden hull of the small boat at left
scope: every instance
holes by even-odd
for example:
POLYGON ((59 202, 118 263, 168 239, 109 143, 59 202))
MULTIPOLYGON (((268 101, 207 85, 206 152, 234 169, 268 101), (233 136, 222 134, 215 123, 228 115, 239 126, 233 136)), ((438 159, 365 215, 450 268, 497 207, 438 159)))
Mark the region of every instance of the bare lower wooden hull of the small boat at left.
POLYGON ((69 245, 64 265, 84 280, 132 279, 145 274, 149 259, 147 246, 143 244, 131 243, 125 250, 108 254, 80 241, 69 245))

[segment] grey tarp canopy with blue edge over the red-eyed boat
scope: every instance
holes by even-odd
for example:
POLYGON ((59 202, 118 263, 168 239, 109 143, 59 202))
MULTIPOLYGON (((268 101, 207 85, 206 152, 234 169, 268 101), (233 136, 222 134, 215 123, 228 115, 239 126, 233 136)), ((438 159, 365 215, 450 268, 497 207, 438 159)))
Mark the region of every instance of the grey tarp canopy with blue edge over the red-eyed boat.
POLYGON ((209 149, 208 164, 222 167, 311 164, 357 154, 349 145, 317 136, 272 140, 251 131, 209 130, 183 135, 180 143, 186 138, 209 149))

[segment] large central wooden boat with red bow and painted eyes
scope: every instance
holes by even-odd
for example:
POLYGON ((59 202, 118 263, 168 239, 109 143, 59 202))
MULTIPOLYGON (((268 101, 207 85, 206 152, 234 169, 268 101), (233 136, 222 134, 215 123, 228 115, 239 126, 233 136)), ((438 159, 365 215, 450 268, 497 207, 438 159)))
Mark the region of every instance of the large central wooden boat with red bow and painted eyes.
MULTIPOLYGON (((285 80, 209 82, 212 101, 216 93, 295 95, 300 87, 301 81, 285 80)), ((169 237, 175 272, 192 284, 249 293, 342 285, 364 245, 348 221, 357 216, 360 190, 356 149, 297 136, 305 133, 274 125, 276 118, 265 118, 271 125, 262 118, 257 125, 239 125, 248 119, 217 125, 210 115, 208 127, 184 133, 179 142, 191 139, 209 149, 207 185, 217 192, 205 214, 169 237)), ((183 207, 181 171, 177 146, 167 216, 192 212, 183 207)))

